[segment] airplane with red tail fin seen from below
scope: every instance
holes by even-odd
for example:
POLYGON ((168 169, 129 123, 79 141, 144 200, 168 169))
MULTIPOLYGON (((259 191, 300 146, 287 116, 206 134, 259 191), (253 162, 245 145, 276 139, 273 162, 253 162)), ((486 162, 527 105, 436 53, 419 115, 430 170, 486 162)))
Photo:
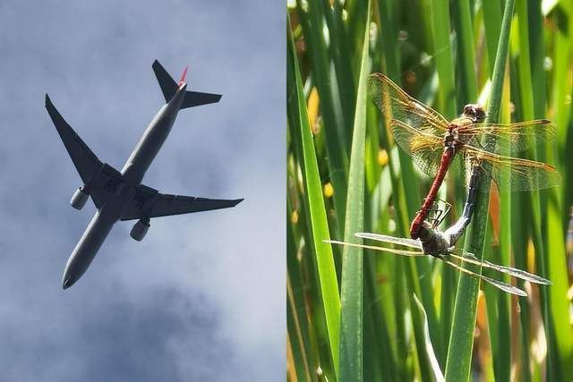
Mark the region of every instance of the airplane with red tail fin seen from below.
POLYGON ((161 106, 158 114, 151 120, 121 172, 98 159, 73 131, 72 126, 65 122, 46 94, 47 113, 56 125, 56 130, 83 182, 73 193, 70 204, 73 208, 81 209, 91 197, 97 208, 67 261, 62 279, 64 289, 77 282, 90 267, 91 261, 117 221, 137 219, 130 235, 141 242, 150 229, 150 219, 153 217, 230 208, 243 201, 165 194, 141 183, 145 172, 167 139, 179 110, 216 103, 221 98, 219 94, 186 90, 187 68, 179 83, 173 80, 158 60, 154 61, 152 68, 166 104, 161 106))

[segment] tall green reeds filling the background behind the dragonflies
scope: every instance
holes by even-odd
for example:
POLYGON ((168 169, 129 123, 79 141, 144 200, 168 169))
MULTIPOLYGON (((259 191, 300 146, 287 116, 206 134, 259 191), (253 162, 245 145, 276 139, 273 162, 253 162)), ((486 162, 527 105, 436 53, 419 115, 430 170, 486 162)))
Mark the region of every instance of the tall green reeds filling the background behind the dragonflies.
MULTIPOLYGON (((394 146, 367 97, 367 75, 386 73, 449 119, 486 104, 510 8, 497 0, 287 4, 289 380, 573 380, 570 0, 515 3, 500 82, 500 122, 557 124, 554 140, 522 155, 555 166, 561 185, 492 188, 486 224, 474 227, 485 233, 485 259, 551 286, 517 281, 529 293, 517 298, 482 284, 478 297, 467 294, 467 314, 461 305, 455 314, 468 291, 440 261, 322 242, 355 241, 360 231, 408 237, 432 181, 394 146), (452 327, 469 347, 450 342, 452 327)), ((466 199, 461 183, 452 173, 440 189, 453 206, 445 225, 466 199)))

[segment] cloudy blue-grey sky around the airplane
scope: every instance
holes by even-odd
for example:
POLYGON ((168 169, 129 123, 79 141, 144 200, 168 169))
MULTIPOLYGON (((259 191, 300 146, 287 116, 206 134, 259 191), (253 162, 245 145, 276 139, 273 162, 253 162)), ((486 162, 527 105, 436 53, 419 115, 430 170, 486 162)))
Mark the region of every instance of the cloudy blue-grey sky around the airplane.
POLYGON ((285 4, 0 3, 0 380, 253 381, 285 378, 285 4), (77 284, 65 262, 95 212, 44 108, 48 93, 121 169, 164 99, 155 58, 188 89, 144 183, 246 198, 118 223, 77 284))

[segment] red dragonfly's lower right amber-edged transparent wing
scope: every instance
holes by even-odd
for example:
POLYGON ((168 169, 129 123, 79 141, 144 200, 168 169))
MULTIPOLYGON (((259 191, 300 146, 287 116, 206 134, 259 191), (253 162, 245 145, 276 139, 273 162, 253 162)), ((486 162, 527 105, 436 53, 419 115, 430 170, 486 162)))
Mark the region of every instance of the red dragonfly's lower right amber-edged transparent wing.
POLYGON ((557 186, 561 181, 559 172, 542 162, 500 156, 469 146, 465 146, 464 151, 467 156, 489 164, 482 165, 485 170, 483 174, 491 176, 500 191, 541 190, 557 186))

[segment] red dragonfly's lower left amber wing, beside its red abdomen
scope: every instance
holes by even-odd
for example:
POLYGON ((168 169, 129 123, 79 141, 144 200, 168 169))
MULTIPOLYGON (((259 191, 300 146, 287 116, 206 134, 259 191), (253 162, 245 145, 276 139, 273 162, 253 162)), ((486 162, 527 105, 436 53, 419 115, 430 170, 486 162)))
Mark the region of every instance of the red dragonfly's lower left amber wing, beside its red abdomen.
POLYGON ((444 148, 443 139, 415 130, 398 120, 390 121, 389 129, 398 146, 414 159, 415 165, 424 174, 435 176, 440 167, 444 148))

